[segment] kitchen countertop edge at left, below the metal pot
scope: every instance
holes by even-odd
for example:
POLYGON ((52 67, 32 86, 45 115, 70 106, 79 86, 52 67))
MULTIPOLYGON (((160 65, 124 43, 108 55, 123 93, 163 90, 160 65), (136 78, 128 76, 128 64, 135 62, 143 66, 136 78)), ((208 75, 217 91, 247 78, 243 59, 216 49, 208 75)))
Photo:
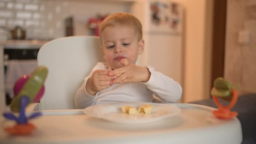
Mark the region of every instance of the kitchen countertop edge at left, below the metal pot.
POLYGON ((17 48, 17 49, 29 49, 29 48, 41 48, 42 45, 47 43, 48 40, 4 40, 0 41, 0 45, 5 49, 17 48))

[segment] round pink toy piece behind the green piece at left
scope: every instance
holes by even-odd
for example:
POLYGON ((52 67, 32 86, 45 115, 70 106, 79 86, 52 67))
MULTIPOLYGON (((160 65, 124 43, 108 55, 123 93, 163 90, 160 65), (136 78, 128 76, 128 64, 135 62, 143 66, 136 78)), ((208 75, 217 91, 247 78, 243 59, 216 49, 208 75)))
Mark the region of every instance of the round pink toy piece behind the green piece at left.
MULTIPOLYGON (((16 81, 16 83, 13 87, 14 96, 17 96, 19 94, 19 92, 21 91, 21 88, 23 88, 23 85, 25 85, 27 80, 29 80, 29 77, 30 77, 30 75, 23 75, 16 81)), ((45 91, 45 86, 43 85, 42 88, 40 89, 40 91, 38 91, 37 96, 35 97, 33 102, 39 101, 41 99, 41 97, 43 96, 44 91, 45 91)))

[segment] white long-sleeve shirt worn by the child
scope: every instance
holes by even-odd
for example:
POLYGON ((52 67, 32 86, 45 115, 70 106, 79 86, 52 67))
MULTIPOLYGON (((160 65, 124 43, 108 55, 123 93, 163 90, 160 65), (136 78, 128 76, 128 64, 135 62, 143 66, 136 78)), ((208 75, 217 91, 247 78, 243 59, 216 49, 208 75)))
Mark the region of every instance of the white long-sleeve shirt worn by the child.
POLYGON ((75 96, 76 107, 83 109, 94 104, 109 102, 152 102, 153 94, 158 96, 164 103, 179 101, 182 94, 181 85, 170 77, 156 72, 154 68, 148 68, 151 76, 146 83, 114 84, 97 92, 95 96, 91 96, 85 90, 86 81, 95 70, 108 69, 106 64, 102 62, 97 63, 91 73, 85 77, 82 86, 77 90, 75 96))

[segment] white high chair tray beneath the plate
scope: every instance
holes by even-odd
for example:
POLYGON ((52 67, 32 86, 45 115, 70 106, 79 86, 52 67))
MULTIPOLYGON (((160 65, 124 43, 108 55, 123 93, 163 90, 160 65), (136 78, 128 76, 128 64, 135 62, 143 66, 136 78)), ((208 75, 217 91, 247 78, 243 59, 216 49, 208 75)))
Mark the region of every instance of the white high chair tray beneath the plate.
POLYGON ((215 108, 197 104, 171 104, 181 112, 146 124, 118 124, 89 117, 83 109, 46 110, 31 123, 37 129, 28 136, 9 136, 3 127, 13 125, 0 117, 2 144, 240 144, 242 130, 237 118, 220 120, 215 108))

